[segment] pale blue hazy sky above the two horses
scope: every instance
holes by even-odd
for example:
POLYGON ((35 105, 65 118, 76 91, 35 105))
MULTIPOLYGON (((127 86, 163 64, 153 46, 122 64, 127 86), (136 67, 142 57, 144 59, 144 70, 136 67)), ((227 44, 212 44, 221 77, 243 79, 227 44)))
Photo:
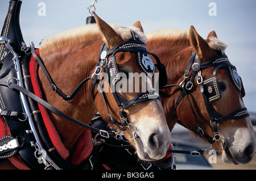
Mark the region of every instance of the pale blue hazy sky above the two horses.
MULTIPOLYGON (((94 0, 23 0, 20 27, 27 45, 85 24, 94 0)), ((0 1, 0 25, 9 0, 0 1)), ((226 54, 242 77, 247 109, 256 112, 256 1, 255 0, 98 0, 96 13, 107 23, 131 26, 141 21, 144 32, 196 28, 206 38, 212 30, 228 44, 226 54)))

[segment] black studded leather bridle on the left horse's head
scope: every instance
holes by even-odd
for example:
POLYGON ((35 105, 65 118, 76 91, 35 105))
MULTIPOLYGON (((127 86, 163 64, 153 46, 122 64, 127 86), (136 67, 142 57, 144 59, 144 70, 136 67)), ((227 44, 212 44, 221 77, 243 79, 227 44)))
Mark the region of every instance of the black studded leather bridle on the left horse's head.
POLYGON ((156 56, 156 54, 154 53, 148 52, 146 45, 139 39, 139 36, 133 30, 130 30, 130 31, 131 31, 133 40, 120 43, 112 49, 108 49, 105 43, 101 45, 96 69, 93 73, 94 78, 93 78, 93 84, 92 84, 92 94, 94 98, 94 89, 95 89, 95 86, 99 83, 98 76, 100 75, 102 68, 105 68, 105 72, 108 74, 108 78, 109 78, 108 82, 110 85, 110 89, 113 93, 115 102, 117 103, 117 106, 118 106, 118 112, 121 117, 121 121, 117 121, 113 119, 112 116, 110 116, 106 95, 103 90, 101 90, 102 97, 104 99, 105 106, 108 111, 109 120, 112 121, 115 125, 117 125, 117 127, 122 131, 125 131, 126 127, 129 125, 129 123, 127 123, 127 116, 125 112, 125 109, 127 107, 136 103, 145 102, 147 100, 160 99, 158 92, 156 92, 155 90, 141 92, 131 100, 127 100, 123 98, 123 96, 117 90, 115 90, 116 83, 120 81, 117 61, 115 57, 115 54, 117 54, 118 52, 136 53, 137 64, 139 68, 144 73, 146 73, 146 75, 149 75, 150 77, 152 77, 155 73, 155 66, 158 67, 161 64, 158 56, 156 56), (151 60, 148 54, 151 54, 155 58, 156 65, 154 65, 154 62, 151 60), (122 110, 120 109, 121 107, 122 107, 122 110))

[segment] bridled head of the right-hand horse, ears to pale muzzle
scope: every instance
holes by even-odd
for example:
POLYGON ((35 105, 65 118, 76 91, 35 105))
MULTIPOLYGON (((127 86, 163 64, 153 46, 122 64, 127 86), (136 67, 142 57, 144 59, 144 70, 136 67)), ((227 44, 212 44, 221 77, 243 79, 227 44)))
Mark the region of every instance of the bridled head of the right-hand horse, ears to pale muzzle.
MULTIPOLYGON (((247 163, 254 158, 255 136, 242 100, 245 96, 242 80, 224 53, 226 45, 217 39, 214 31, 204 40, 193 26, 188 36, 199 60, 192 65, 197 76, 194 75, 194 86, 189 91, 199 117, 200 129, 214 138, 213 146, 216 150, 222 150, 224 162, 247 163)), ((184 111, 187 109, 187 100, 180 102, 177 107, 179 119, 185 119, 187 113, 184 111)), ((196 121, 182 122, 189 129, 198 131, 196 121)))

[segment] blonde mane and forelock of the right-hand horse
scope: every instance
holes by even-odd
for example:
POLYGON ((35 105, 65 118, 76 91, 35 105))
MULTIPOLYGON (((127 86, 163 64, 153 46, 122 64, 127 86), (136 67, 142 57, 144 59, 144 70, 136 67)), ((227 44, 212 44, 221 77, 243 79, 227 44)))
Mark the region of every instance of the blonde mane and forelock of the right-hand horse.
MULTIPOLYGON (((161 44, 166 45, 186 45, 189 44, 189 30, 180 30, 180 29, 164 29, 156 30, 149 33, 146 33, 148 42, 152 40, 162 41, 161 44)), ((209 37, 208 44, 209 47, 214 50, 226 49, 227 45, 224 44, 221 40, 216 37, 209 37), (220 47, 219 47, 220 46, 220 47)))

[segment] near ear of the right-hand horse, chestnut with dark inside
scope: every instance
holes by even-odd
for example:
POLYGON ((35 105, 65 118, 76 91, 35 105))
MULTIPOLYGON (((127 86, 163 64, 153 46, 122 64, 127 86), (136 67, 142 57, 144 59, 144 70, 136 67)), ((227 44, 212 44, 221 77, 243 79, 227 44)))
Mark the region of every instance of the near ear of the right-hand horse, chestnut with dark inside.
POLYGON ((209 60, 211 55, 208 43, 196 32, 195 27, 191 26, 189 30, 189 41, 202 62, 209 60))

